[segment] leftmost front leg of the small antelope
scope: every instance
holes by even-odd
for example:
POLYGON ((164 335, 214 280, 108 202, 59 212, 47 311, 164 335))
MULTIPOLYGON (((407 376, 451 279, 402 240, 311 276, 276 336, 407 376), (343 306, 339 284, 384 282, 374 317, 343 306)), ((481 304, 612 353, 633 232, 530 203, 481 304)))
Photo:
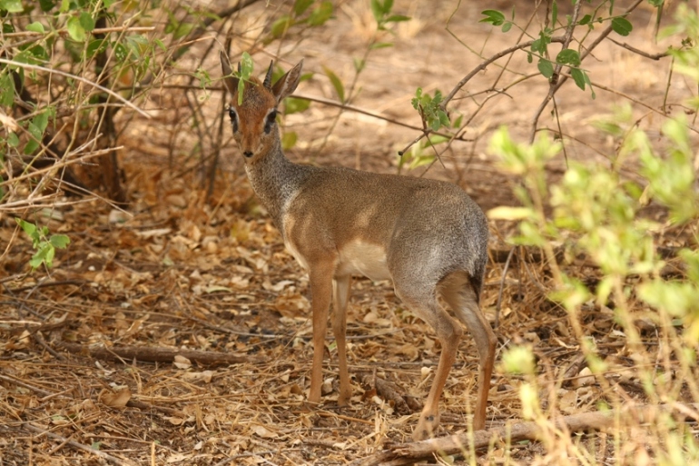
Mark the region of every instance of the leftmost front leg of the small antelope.
POLYGON ((328 329, 333 268, 331 264, 318 264, 312 267, 309 273, 310 309, 313 313, 313 367, 310 372, 309 393, 309 402, 311 403, 320 403, 325 332, 328 329))

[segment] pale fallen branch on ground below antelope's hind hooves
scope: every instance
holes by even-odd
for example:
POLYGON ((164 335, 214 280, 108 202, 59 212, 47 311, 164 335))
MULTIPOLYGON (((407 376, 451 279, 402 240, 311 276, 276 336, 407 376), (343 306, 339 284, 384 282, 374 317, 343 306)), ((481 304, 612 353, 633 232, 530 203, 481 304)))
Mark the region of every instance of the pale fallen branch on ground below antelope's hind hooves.
MULTIPOLYGON (((569 432, 600 431, 611 427, 617 419, 633 418, 635 421, 645 422, 654 420, 661 411, 672 411, 678 420, 685 418, 697 419, 699 404, 664 404, 658 406, 631 407, 621 412, 596 411, 573 414, 556 420, 556 429, 569 432)), ((350 466, 374 466, 374 465, 400 465, 412 464, 416 461, 428 460, 435 454, 453 455, 473 449, 487 447, 493 438, 497 441, 509 442, 533 440, 537 441, 544 434, 536 422, 519 422, 490 429, 487 431, 475 431, 439 437, 426 441, 412 443, 400 443, 389 447, 367 458, 362 458, 350 463, 350 466)))

